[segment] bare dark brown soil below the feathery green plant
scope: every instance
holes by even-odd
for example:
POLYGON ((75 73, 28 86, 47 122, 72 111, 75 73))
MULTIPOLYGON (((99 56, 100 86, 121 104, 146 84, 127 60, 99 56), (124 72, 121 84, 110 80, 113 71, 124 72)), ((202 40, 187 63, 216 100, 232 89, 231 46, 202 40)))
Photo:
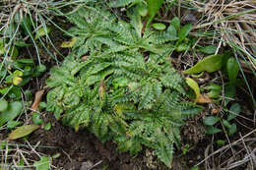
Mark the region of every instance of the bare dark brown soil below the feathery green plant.
MULTIPOLYGON (((60 122, 57 122, 55 118, 49 114, 45 119, 52 123, 51 130, 45 131, 40 129, 34 132, 30 138, 30 142, 32 145, 39 142, 39 144, 37 144, 43 147, 37 147, 37 151, 43 154, 52 156, 56 153, 60 153, 58 158, 53 159, 53 166, 57 169, 168 169, 153 155, 152 151, 147 148, 136 156, 131 156, 129 153, 120 153, 116 150, 114 143, 102 143, 86 130, 76 133, 73 129, 62 126, 60 122)), ((195 153, 198 154, 198 150, 195 153)), ((176 170, 188 169, 185 161, 183 161, 184 158, 184 156, 180 156, 180 153, 175 155, 175 161, 173 161, 175 163, 173 166, 176 167, 176 170)), ((194 161, 196 160, 191 160, 190 163, 194 163, 194 161)))

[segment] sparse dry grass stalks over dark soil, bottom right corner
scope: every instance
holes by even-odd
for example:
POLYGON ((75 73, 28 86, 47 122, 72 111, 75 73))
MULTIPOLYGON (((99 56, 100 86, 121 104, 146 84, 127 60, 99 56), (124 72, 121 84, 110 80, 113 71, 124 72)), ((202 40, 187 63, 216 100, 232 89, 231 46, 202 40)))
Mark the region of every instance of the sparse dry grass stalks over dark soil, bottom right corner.
POLYGON ((230 142, 214 150, 213 143, 205 149, 205 159, 197 165, 204 164, 206 170, 254 170, 256 168, 256 130, 245 136, 239 134, 239 140, 230 142))

